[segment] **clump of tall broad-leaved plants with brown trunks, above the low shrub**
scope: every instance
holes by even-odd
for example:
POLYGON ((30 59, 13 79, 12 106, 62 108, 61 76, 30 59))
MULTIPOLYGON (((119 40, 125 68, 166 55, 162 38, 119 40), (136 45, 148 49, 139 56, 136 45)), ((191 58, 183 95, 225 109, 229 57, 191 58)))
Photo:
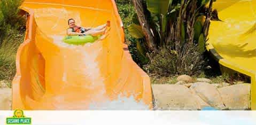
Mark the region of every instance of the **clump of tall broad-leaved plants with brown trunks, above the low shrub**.
POLYGON ((184 46, 197 48, 196 51, 204 53, 210 20, 220 21, 218 12, 212 9, 215 0, 132 1, 136 15, 134 24, 128 30, 137 38, 137 52, 141 61, 152 61, 154 58, 150 58, 150 55, 163 48, 176 51, 177 55, 183 53, 184 46))

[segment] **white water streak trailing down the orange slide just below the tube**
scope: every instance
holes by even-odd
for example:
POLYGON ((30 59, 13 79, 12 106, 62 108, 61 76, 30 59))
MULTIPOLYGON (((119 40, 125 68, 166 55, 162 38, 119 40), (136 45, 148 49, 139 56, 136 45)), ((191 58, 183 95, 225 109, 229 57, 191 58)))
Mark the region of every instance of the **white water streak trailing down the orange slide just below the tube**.
MULTIPOLYGON (((81 87, 88 88, 88 89, 94 89, 96 87, 102 86, 104 88, 104 77, 100 74, 100 67, 98 61, 96 59, 100 56, 100 53, 103 52, 102 46, 99 45, 99 48, 87 52, 86 49, 89 48, 94 43, 86 43, 84 45, 72 45, 64 43, 63 37, 61 35, 52 35, 53 43, 59 46, 61 49, 61 55, 64 56, 64 61, 68 59, 69 57, 66 57, 65 53, 73 51, 74 54, 79 54, 81 56, 79 60, 77 60, 77 67, 80 67, 77 69, 77 71, 80 71, 82 73, 82 76, 85 76, 89 79, 89 82, 82 84, 81 87), (91 83, 91 84, 89 84, 91 83)), ((96 43, 96 42, 95 42, 96 43)), ((97 44, 97 43, 96 43, 97 44)), ((75 55, 74 55, 75 56, 75 55)), ((65 63, 65 62, 64 62, 65 63)), ((67 76, 68 73, 65 72, 64 67, 64 74, 63 74, 63 81, 67 82, 67 76)), ((104 90, 104 89, 103 89, 104 90)))

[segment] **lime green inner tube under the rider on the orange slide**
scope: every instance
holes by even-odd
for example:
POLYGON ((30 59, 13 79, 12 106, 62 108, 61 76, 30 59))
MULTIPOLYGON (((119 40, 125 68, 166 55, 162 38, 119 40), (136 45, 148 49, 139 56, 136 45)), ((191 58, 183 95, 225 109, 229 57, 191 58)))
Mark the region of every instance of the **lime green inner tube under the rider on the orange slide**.
POLYGON ((74 44, 74 45, 83 45, 85 43, 93 43, 96 40, 98 40, 100 35, 98 36, 65 36, 63 41, 68 44, 74 44))

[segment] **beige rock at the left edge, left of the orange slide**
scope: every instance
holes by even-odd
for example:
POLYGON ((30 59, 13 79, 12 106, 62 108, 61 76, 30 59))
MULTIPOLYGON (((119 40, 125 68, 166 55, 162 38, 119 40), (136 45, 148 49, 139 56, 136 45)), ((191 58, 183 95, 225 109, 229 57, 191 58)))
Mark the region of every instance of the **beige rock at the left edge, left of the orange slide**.
POLYGON ((10 88, 0 89, 0 110, 11 110, 12 90, 10 88))

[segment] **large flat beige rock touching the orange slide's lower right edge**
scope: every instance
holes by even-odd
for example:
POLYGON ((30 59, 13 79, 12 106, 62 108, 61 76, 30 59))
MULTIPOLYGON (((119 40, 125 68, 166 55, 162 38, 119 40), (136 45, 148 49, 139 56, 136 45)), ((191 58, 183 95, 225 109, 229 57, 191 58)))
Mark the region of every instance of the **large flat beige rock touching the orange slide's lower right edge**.
POLYGON ((176 84, 153 84, 157 110, 200 110, 189 88, 176 84))

